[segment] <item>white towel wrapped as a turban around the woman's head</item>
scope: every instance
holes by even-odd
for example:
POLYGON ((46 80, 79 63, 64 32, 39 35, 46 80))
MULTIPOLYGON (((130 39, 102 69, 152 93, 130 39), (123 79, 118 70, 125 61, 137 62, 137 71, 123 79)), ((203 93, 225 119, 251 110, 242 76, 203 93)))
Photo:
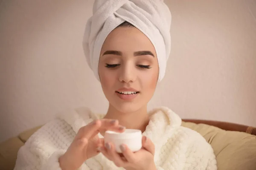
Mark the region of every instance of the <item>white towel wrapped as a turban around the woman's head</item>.
POLYGON ((163 0, 95 0, 93 16, 84 31, 83 49, 96 78, 99 80, 99 57, 105 39, 125 21, 142 31, 154 45, 158 81, 162 80, 171 51, 171 12, 163 0))

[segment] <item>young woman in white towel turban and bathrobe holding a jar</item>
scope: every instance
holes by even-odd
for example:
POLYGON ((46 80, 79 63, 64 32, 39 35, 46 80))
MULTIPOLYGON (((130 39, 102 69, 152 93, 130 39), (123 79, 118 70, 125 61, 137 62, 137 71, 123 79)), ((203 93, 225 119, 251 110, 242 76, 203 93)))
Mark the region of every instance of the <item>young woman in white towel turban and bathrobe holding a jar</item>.
POLYGON ((106 114, 67 111, 20 148, 15 170, 216 170, 212 147, 181 127, 169 108, 148 113, 170 53, 171 14, 161 0, 96 0, 84 34, 87 62, 109 101, 106 114), (143 132, 143 148, 131 152, 104 144, 104 132, 143 132))

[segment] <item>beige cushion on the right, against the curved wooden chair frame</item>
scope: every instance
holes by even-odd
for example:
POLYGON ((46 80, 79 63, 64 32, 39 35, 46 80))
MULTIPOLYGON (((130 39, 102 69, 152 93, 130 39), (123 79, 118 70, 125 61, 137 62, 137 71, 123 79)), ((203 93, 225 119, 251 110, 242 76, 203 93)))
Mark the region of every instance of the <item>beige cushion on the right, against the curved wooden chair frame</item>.
POLYGON ((256 170, 255 135, 191 122, 182 122, 182 126, 197 131, 211 144, 218 170, 256 170))

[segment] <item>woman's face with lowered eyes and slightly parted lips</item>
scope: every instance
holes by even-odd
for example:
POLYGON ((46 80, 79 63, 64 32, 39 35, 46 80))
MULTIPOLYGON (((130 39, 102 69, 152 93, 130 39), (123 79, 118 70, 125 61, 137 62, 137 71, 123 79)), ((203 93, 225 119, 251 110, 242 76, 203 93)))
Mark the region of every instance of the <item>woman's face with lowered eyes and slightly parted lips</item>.
POLYGON ((146 107, 158 79, 154 46, 135 27, 117 27, 106 38, 99 59, 102 90, 123 113, 146 107))

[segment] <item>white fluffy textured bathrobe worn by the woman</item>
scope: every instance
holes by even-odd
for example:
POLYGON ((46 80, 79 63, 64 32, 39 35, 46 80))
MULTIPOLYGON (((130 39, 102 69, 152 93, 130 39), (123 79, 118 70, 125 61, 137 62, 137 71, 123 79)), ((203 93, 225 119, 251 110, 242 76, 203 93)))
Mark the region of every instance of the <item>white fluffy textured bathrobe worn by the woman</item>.
MULTIPOLYGON (((157 170, 217 170, 212 147, 197 132, 182 127, 180 117, 168 108, 150 113, 143 135, 155 145, 157 170)), ((20 148, 14 170, 61 170, 58 158, 65 153, 79 128, 104 115, 78 108, 60 114, 35 132, 20 148)), ((88 159, 79 170, 122 170, 102 153, 88 159)))

